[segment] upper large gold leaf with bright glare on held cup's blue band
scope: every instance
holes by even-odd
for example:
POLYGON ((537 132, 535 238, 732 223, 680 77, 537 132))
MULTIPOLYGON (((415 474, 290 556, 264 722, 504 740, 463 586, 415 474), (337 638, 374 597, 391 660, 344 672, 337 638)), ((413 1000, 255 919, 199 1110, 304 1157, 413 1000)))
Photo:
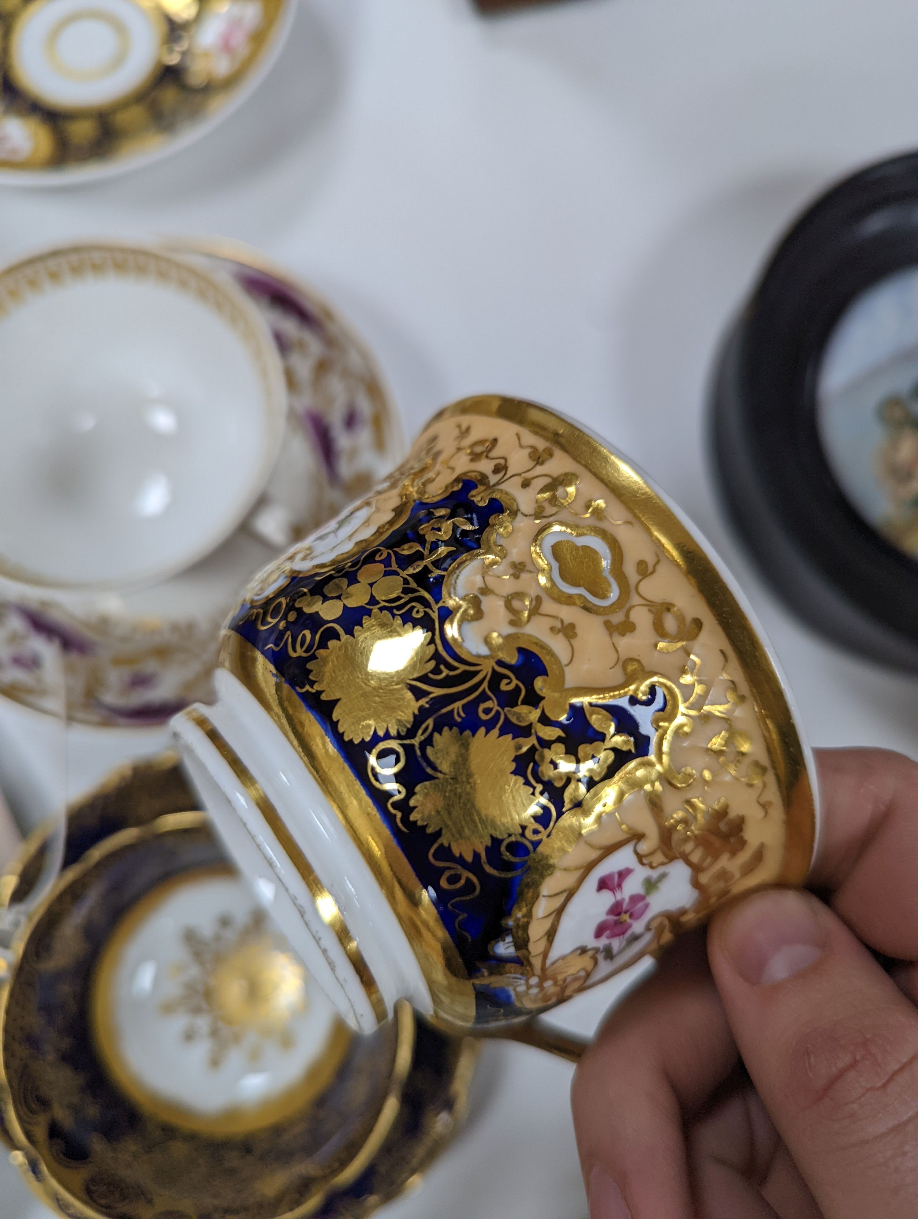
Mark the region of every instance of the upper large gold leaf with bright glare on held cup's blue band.
POLYGON ((433 656, 429 631, 374 610, 354 635, 318 653, 310 677, 326 698, 336 700, 334 718, 345 739, 368 741, 373 733, 397 735, 411 725, 417 700, 407 683, 429 672, 433 656))

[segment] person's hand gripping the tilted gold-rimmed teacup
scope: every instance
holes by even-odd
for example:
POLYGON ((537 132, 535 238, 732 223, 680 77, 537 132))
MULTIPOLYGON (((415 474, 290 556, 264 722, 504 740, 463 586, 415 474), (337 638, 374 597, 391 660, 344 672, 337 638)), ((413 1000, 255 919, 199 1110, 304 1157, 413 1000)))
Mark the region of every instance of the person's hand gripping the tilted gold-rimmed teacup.
POLYGON ((818 753, 811 894, 686 936, 584 1054, 590 1219, 916 1219, 918 764, 818 753), (892 976, 867 945, 896 958, 892 976))

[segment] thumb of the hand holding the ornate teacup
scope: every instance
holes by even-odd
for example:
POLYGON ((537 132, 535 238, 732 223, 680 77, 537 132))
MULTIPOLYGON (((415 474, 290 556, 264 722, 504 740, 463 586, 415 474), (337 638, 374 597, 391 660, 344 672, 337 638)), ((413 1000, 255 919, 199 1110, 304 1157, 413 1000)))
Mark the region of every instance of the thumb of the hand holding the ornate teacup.
POLYGON ((825 1219, 914 1219, 918 1012, 806 892, 724 911, 708 958, 746 1069, 825 1219))

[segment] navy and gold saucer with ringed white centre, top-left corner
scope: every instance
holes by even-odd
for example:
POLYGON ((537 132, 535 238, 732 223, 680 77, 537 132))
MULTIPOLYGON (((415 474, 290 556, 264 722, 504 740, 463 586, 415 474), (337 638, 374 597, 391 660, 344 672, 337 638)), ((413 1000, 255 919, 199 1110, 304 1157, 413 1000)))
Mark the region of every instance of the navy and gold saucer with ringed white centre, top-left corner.
POLYGON ((12 0, 0 183, 107 177, 189 144, 251 93, 293 12, 293 0, 12 0))

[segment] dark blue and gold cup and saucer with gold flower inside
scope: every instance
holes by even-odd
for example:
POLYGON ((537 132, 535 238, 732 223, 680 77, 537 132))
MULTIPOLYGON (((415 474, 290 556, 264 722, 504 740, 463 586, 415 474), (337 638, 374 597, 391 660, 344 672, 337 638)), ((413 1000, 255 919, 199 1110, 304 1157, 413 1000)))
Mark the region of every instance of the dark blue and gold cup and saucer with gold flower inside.
MULTIPOLYGON (((12 1159, 80 1219, 366 1215, 454 1131, 475 1047, 407 1007, 354 1037, 202 814, 163 813, 189 798, 163 755, 69 813, 68 872, 0 981, 12 1159)), ((34 884, 43 846, 0 903, 34 884)))

